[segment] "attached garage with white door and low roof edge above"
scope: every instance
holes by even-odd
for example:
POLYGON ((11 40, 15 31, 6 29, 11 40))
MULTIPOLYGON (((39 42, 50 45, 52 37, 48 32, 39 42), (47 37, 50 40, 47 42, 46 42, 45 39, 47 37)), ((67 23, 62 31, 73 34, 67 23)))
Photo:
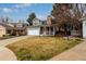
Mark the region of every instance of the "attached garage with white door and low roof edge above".
POLYGON ((27 35, 39 36, 40 35, 40 27, 39 26, 32 26, 32 27, 27 28, 27 35))

